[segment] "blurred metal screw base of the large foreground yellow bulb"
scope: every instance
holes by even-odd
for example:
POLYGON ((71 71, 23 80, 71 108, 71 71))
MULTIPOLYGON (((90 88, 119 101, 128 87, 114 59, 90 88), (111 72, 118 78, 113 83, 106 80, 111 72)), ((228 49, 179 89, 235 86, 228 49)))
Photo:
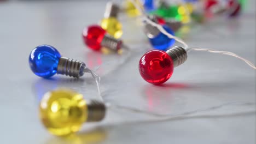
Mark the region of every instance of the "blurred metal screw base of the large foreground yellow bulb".
POLYGON ((86 101, 88 108, 88 122, 101 121, 106 115, 106 106, 97 100, 86 101))

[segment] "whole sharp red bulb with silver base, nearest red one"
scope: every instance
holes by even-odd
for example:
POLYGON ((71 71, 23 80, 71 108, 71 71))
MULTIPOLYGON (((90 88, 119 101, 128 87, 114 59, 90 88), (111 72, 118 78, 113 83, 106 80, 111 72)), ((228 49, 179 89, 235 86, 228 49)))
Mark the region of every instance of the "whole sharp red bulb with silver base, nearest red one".
POLYGON ((142 78, 154 85, 166 82, 173 73, 173 68, 187 60, 187 52, 181 46, 170 50, 151 50, 139 60, 139 73, 142 78))

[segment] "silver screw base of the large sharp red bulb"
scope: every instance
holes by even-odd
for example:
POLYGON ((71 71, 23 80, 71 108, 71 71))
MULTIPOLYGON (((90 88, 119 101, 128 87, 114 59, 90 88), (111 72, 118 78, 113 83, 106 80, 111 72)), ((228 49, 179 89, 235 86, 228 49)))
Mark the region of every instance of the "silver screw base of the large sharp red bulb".
POLYGON ((187 51, 181 46, 175 46, 167 50, 166 53, 172 58, 174 67, 183 64, 188 58, 187 51))

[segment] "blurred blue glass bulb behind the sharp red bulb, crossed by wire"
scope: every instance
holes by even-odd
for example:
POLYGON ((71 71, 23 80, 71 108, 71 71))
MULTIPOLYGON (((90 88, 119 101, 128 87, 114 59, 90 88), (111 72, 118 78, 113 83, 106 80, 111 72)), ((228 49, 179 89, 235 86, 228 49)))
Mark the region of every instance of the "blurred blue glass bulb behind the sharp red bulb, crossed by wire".
MULTIPOLYGON (((164 25, 163 27, 165 31, 174 35, 172 29, 170 29, 166 25, 164 25)), ((154 38, 149 38, 149 42, 153 45, 155 49, 166 51, 168 47, 172 46, 175 43, 175 40, 168 38, 165 34, 160 32, 154 38)))

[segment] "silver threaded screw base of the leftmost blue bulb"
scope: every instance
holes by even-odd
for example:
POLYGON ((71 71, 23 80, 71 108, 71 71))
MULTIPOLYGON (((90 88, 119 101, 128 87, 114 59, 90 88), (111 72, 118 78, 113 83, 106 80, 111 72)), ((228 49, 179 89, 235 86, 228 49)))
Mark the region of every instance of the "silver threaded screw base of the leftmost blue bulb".
POLYGON ((82 61, 61 57, 57 67, 57 74, 79 78, 84 75, 86 65, 82 61))

